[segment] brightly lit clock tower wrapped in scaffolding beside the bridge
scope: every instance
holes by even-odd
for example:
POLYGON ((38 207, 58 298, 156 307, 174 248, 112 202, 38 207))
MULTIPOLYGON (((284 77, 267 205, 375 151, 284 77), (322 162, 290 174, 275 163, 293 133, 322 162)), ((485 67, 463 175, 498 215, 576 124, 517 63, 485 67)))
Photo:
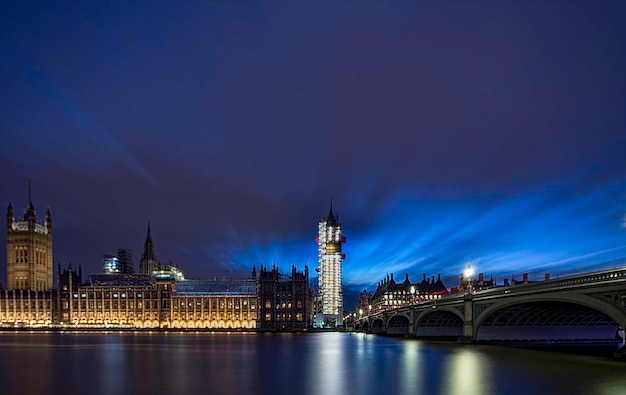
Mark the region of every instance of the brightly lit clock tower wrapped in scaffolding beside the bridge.
POLYGON ((320 307, 317 312, 318 327, 337 327, 343 325, 343 290, 341 285, 342 263, 345 254, 341 245, 346 238, 341 233, 339 216, 333 213, 333 201, 330 201, 328 215, 318 224, 318 297, 320 307))

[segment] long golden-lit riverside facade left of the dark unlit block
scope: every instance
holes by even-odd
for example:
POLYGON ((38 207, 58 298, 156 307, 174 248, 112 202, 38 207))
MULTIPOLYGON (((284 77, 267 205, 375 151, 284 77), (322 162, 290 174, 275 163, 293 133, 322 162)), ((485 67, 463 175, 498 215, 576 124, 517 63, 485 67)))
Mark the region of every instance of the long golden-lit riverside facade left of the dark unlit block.
MULTIPOLYGON (((0 327, 256 330, 254 295, 177 296, 152 287, 78 287, 68 292, 3 291, 0 327)), ((171 286, 170 286, 171 289, 171 286)))

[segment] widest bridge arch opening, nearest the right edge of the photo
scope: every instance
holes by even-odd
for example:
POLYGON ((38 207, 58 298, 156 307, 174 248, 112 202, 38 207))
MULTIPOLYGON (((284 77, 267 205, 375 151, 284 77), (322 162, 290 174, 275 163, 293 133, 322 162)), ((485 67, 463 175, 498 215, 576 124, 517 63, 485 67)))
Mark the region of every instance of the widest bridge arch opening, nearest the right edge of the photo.
POLYGON ((625 314, 587 295, 533 295, 497 302, 474 318, 474 339, 612 340, 625 314))

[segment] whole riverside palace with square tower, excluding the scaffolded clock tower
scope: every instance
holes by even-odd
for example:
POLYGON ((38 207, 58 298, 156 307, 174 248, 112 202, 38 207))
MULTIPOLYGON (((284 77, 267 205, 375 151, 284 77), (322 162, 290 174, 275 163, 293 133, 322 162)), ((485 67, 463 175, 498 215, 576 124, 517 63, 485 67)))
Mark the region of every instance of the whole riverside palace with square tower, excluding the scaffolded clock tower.
MULTIPOLYGON (((29 198, 30 200, 30 198, 29 198)), ((308 268, 284 276, 274 267, 249 278, 187 280, 159 265, 148 226, 139 274, 57 266, 53 289, 52 219, 24 220, 7 209, 7 287, 0 287, 0 329, 304 331, 312 326, 308 268)))

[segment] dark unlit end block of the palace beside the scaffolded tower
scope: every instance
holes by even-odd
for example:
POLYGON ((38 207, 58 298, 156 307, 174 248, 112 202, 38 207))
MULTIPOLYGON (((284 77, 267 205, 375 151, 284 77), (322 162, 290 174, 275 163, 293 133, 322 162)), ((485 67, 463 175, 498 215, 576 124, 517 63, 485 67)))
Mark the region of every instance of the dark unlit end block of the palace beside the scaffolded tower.
POLYGON ((261 306, 260 331, 304 331, 313 326, 313 292, 309 288, 309 268, 291 277, 283 276, 278 267, 268 271, 261 266, 255 274, 261 306))

